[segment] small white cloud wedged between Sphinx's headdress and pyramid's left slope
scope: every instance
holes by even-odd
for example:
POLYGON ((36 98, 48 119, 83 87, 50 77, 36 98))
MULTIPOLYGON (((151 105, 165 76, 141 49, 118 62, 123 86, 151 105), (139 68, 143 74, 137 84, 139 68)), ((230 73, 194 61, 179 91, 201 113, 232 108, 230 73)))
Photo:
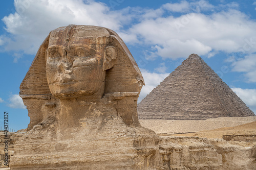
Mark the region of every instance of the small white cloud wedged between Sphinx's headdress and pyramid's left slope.
POLYGON ((141 74, 145 81, 145 86, 142 87, 138 102, 140 102, 147 94, 149 94, 153 88, 158 86, 161 81, 163 81, 167 76, 168 73, 158 74, 156 72, 150 72, 146 69, 140 69, 141 74))

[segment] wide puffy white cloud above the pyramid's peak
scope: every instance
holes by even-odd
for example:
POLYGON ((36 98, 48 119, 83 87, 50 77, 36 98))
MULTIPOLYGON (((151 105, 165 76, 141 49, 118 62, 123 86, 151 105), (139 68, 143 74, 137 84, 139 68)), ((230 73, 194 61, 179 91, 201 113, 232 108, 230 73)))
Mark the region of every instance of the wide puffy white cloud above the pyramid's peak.
POLYGON ((256 39, 255 28, 256 22, 249 16, 238 10, 228 10, 210 15, 190 13, 180 17, 145 19, 133 25, 130 34, 155 46, 157 55, 175 59, 191 53, 240 52, 244 47, 246 53, 256 52, 256 45, 246 44, 248 40, 256 39))

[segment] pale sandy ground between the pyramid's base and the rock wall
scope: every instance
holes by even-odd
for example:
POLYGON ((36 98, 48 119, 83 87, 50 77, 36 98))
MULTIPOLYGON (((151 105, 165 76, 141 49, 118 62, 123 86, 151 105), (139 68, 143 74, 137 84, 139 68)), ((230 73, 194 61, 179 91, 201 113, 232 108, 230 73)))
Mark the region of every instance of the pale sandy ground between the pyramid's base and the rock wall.
MULTIPOLYGON (((256 116, 219 117, 206 120, 140 120, 142 126, 160 136, 198 136, 222 138, 223 135, 256 135, 256 116), (194 133, 191 133, 194 132, 194 133)), ((228 141, 249 148, 255 141, 228 141)))

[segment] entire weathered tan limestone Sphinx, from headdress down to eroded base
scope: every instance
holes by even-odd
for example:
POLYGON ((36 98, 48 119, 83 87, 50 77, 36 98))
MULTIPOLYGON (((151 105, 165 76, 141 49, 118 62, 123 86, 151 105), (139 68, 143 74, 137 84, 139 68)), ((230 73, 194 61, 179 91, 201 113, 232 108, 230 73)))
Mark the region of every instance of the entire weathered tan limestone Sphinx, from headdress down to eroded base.
POLYGON ((20 85, 31 121, 12 169, 154 168, 159 137, 140 126, 136 110, 143 84, 114 31, 53 30, 20 85))

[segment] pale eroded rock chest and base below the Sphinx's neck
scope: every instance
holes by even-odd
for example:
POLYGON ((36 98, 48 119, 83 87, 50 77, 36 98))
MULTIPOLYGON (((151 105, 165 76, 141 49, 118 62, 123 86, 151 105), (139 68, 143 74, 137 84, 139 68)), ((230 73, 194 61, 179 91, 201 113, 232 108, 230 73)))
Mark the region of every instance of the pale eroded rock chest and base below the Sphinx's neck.
POLYGON ((42 122, 20 138, 11 169, 153 169, 161 162, 159 137, 118 116, 84 119, 82 128, 62 132, 56 126, 42 122))

